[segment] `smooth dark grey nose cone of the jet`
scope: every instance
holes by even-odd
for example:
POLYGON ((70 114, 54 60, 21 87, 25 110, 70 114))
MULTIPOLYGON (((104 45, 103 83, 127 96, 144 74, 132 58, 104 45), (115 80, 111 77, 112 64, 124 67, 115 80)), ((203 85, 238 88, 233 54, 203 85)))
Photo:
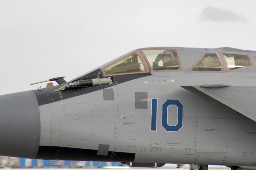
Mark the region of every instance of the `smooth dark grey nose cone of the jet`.
POLYGON ((0 96, 0 155, 35 158, 40 114, 33 91, 0 96))

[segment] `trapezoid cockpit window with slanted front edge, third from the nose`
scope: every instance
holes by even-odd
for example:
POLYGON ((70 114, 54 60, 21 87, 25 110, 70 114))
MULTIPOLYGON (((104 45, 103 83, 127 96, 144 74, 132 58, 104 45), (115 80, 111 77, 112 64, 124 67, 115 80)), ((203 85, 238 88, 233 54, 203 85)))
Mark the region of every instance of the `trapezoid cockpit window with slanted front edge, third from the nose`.
POLYGON ((221 71, 220 60, 216 53, 206 53, 192 71, 221 71))

